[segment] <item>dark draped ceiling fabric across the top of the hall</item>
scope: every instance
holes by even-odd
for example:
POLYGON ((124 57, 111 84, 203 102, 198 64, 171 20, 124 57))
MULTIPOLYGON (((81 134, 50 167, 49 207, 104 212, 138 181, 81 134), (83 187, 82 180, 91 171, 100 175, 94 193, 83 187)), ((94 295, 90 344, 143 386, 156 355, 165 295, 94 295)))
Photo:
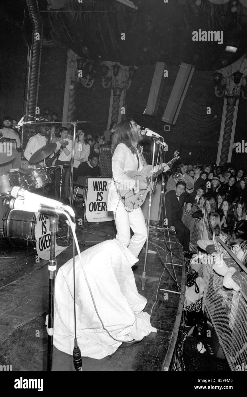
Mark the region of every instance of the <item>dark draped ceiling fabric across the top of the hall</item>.
MULTIPOLYGON (((243 0, 242 0, 243 1, 243 0)), ((244 0, 247 2, 247 0, 244 0)), ((58 2, 49 0, 51 7, 58 2)), ((62 11, 43 13, 52 39, 78 56, 110 60, 127 66, 193 64, 198 70, 213 71, 239 59, 247 47, 247 8, 238 4, 212 4, 199 7, 194 0, 134 0, 132 10, 113 0, 72 0, 61 2, 62 11), (75 11, 75 12, 74 12, 75 11), (192 32, 223 31, 223 44, 192 41, 192 32), (121 34, 125 33, 125 40, 121 34), (229 35, 239 41, 237 54, 225 52, 229 35), (222 63, 223 62, 223 63, 222 63)))

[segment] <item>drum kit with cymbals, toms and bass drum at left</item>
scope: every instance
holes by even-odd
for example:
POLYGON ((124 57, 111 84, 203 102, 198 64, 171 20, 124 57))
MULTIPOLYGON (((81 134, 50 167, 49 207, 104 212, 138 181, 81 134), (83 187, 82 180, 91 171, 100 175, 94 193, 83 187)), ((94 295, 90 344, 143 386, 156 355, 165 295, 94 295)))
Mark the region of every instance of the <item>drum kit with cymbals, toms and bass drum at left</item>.
MULTIPOLYGON (((56 143, 43 146, 37 150, 30 158, 31 164, 37 164, 50 156, 57 148, 56 143)), ((0 156, 0 165, 13 160, 11 158, 0 156)), ((57 157, 49 159, 50 165, 57 157), (52 160, 52 161, 51 161, 52 160)), ((54 168, 54 167, 47 167, 54 168)), ((52 182, 46 167, 42 168, 11 168, 7 174, 0 174, 0 199, 8 198, 11 195, 12 187, 23 187, 33 193, 38 193, 35 189, 44 188, 44 186, 52 182)), ((8 209, 4 217, 3 237, 15 247, 32 247, 36 248, 36 239, 34 237, 34 229, 36 225, 36 216, 31 212, 10 210, 8 209)), ((26 258, 27 262, 27 258, 26 258)))

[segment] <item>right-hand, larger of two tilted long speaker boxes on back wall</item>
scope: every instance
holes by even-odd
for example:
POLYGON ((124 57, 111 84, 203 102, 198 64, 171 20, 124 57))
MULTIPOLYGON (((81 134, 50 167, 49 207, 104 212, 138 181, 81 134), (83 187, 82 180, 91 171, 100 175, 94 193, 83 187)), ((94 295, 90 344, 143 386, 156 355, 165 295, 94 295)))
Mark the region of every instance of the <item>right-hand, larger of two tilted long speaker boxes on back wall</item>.
POLYGON ((165 123, 173 125, 176 123, 194 70, 195 67, 192 65, 184 63, 180 65, 178 75, 172 88, 172 93, 170 94, 170 98, 162 118, 162 121, 165 123))

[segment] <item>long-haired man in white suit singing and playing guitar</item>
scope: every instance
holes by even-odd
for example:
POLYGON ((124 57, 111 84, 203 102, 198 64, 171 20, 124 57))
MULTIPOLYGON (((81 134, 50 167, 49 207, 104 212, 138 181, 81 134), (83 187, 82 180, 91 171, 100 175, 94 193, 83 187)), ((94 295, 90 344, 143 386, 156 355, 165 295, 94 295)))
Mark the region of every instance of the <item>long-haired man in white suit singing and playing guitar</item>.
MULTIPOLYGON (((117 125, 111 145, 112 173, 113 181, 111 184, 107 210, 113 211, 115 225, 117 228, 116 239, 128 247, 130 252, 137 258, 147 238, 147 227, 141 208, 130 210, 126 208, 119 200, 117 188, 119 186, 134 189, 134 191, 146 190, 148 185, 146 181, 136 181, 126 175, 130 170, 142 170, 144 162, 143 156, 140 155, 142 140, 140 125, 132 119, 121 121, 117 125), (137 182, 139 182, 137 184, 137 182), (134 235, 130 239, 130 228, 134 235)), ((157 166, 158 168, 159 166, 157 166)), ((168 167, 165 167, 165 172, 168 167)))

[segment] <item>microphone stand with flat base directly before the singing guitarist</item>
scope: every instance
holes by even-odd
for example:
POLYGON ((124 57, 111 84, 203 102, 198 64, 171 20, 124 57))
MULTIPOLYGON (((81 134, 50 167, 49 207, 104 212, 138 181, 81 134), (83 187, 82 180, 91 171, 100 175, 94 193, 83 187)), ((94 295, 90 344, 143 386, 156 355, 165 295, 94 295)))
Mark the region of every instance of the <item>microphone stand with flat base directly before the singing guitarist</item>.
POLYGON ((136 281, 141 281, 143 291, 145 289, 146 282, 151 283, 153 281, 159 281, 159 277, 147 276, 147 272, 146 272, 147 253, 148 253, 147 251, 148 251, 148 242, 149 242, 149 224, 150 224, 151 202, 152 202, 152 195, 153 195, 153 167, 154 167, 154 156, 155 156, 155 143, 156 143, 157 139, 159 139, 159 138, 152 137, 152 139, 153 139, 153 158, 152 158, 151 186, 150 186, 150 192, 149 192, 149 206, 148 206, 148 214, 147 214, 147 240, 146 240, 144 268, 142 271, 142 276, 139 276, 138 274, 134 275, 134 278, 136 281))

